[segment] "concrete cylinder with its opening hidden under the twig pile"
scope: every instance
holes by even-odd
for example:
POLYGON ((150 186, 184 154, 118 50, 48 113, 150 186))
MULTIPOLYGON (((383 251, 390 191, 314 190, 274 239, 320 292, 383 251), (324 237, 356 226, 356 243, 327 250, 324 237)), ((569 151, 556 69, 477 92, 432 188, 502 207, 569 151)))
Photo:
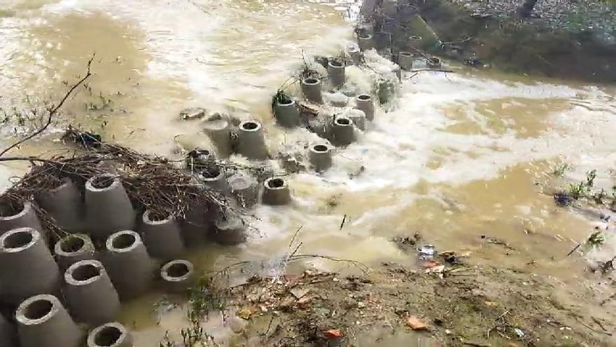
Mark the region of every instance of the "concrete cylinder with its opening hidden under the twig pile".
POLYGON ((70 179, 36 198, 38 204, 49 212, 56 224, 69 233, 80 232, 83 228, 83 197, 70 179))

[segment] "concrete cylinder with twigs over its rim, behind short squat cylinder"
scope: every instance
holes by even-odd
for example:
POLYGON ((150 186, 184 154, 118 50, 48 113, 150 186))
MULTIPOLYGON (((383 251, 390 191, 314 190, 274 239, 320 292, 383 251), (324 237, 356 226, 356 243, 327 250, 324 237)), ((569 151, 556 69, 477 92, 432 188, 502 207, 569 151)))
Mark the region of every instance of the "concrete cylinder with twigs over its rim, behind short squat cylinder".
POLYGON ((182 233, 174 216, 148 210, 141 217, 141 222, 141 233, 151 257, 169 260, 183 254, 182 233))

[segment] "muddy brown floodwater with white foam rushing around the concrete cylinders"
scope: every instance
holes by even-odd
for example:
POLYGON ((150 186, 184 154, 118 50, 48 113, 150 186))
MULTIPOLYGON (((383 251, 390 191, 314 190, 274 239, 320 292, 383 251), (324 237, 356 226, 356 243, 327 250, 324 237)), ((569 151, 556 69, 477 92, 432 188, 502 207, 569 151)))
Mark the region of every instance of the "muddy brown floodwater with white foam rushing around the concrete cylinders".
MULTIPOLYGON (((58 100, 65 82, 83 76, 85 62, 96 53, 94 76, 62 109, 56 133, 15 154, 66 150, 55 139, 69 123, 148 153, 177 156, 178 147, 207 147, 198 123, 177 119, 185 107, 257 118, 273 151, 312 142, 316 137, 305 130, 276 127, 269 98, 301 66, 302 55, 333 55, 352 40, 346 19, 356 6, 299 0, 2 0, 0 106, 8 114, 27 117, 28 110, 41 111, 45 100, 58 100)), ((349 81, 370 86, 356 69, 349 69, 349 81)), ((414 264, 414 254, 390 239, 419 232, 438 250, 470 254, 474 262, 549 275, 556 292, 591 287, 607 297, 611 289, 584 273, 586 258, 565 257, 598 220, 556 207, 543 190, 546 182, 579 181, 591 169, 599 172, 598 184, 610 189, 615 96, 610 86, 465 68, 456 74, 407 74, 393 109, 379 109, 356 144, 337 149, 335 168, 324 175, 290 176, 292 206, 257 208, 252 226, 258 233, 246 245, 209 246, 188 258, 202 271, 272 259, 288 252, 290 238, 303 226, 297 236, 302 253, 371 266, 385 260, 414 264), (562 179, 550 177, 558 163, 572 163, 573 170, 562 179)), ((30 124, 7 119, 0 127, 2 147, 30 124)), ((25 169, 20 163, 0 165, 1 186, 25 169)), ((309 265, 347 270, 322 260, 309 265)), ((133 329, 136 346, 155 346, 166 331, 177 336, 186 324, 183 303, 165 300, 153 292, 125 304, 122 321, 133 329)), ((589 310, 594 305, 577 304, 589 310)), ((232 334, 216 317, 207 328, 220 341, 232 334)), ((415 343, 409 339, 414 338, 396 335, 388 346, 415 343)))

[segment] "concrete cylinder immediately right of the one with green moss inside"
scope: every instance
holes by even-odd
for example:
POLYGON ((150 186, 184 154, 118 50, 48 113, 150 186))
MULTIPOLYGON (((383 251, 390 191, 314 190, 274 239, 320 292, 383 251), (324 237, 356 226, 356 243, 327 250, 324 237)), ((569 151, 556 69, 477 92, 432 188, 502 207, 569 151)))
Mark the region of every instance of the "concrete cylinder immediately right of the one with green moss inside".
POLYGON ((152 282, 153 264, 141 236, 125 230, 111 234, 105 243, 103 264, 120 299, 146 292, 152 282))

